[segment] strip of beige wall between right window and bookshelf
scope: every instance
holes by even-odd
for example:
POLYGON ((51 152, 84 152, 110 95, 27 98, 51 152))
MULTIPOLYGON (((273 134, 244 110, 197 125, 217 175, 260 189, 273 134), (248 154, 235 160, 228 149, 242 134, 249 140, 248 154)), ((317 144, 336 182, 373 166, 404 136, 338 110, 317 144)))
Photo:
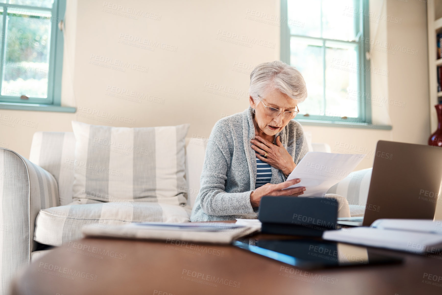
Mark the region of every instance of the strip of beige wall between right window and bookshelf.
POLYGON ((417 56, 396 53, 388 58, 389 98, 406 103, 404 108, 390 107, 394 124, 392 140, 427 144, 430 136, 427 6, 416 0, 408 3, 391 0, 387 1, 387 11, 403 19, 401 25, 389 23, 389 42, 419 50, 417 56))

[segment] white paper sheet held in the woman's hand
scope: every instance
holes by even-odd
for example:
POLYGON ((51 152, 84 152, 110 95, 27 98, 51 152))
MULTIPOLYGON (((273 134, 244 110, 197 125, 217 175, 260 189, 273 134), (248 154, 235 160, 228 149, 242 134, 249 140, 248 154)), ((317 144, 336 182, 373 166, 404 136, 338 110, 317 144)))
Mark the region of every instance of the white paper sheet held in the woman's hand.
POLYGON ((288 188, 305 187, 302 197, 323 197, 333 185, 343 180, 362 161, 365 154, 309 152, 290 173, 287 180, 301 179, 288 188))

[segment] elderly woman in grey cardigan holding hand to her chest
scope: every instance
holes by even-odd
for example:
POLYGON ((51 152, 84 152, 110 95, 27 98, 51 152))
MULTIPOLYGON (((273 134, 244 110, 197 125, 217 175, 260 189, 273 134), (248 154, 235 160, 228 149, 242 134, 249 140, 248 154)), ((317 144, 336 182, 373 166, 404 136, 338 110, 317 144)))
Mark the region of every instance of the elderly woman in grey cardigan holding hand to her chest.
POLYGON ((265 62, 251 72, 249 93, 248 109, 213 126, 192 222, 257 218, 264 195, 305 191, 282 190, 301 181, 286 179, 308 152, 302 127, 293 120, 307 97, 304 78, 282 61, 265 62))

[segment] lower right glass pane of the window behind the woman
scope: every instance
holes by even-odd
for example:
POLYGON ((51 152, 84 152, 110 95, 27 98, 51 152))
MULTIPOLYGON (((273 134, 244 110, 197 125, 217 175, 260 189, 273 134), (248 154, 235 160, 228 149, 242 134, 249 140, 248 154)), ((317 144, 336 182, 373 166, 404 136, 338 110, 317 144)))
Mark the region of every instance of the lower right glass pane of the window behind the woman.
MULTIPOLYGON (((357 46, 348 43, 325 43, 326 116, 358 117, 357 46)), ((365 73, 364 73, 365 74, 365 73)))

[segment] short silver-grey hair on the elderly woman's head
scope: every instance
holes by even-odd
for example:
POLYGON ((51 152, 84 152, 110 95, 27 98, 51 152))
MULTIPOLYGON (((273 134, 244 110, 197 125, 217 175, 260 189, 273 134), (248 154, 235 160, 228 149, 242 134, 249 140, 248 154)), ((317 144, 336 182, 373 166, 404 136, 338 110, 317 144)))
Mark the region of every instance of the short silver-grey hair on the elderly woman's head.
POLYGON ((305 80, 294 66, 282 61, 257 65, 250 74, 250 96, 257 100, 258 95, 263 97, 274 89, 297 100, 298 103, 307 98, 305 80))

